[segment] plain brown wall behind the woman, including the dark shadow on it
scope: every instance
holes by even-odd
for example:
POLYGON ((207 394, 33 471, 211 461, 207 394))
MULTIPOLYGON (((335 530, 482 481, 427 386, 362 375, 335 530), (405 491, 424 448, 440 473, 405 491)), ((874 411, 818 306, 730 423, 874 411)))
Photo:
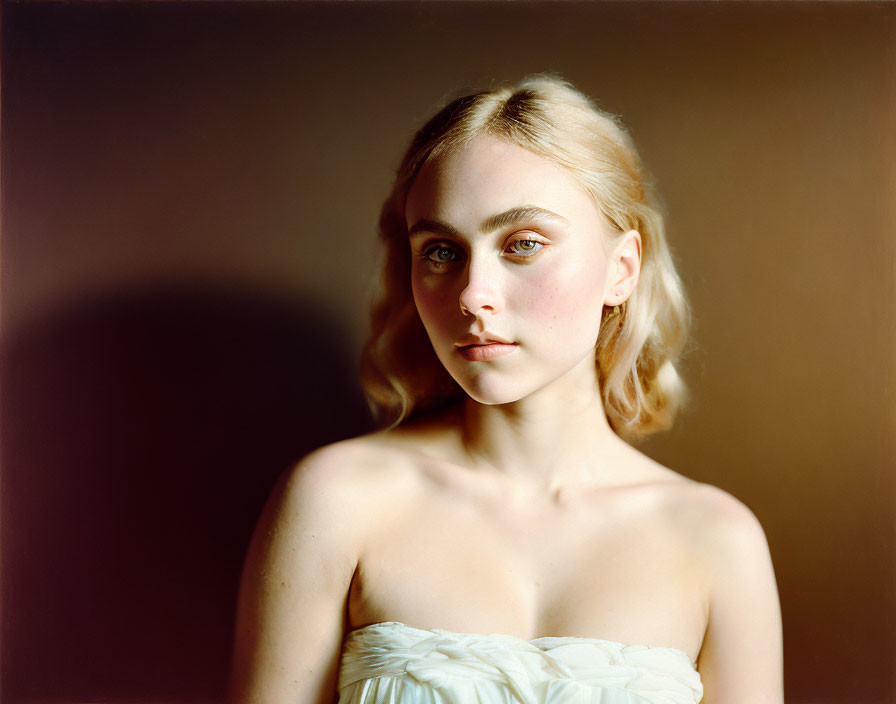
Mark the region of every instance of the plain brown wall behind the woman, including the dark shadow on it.
POLYGON ((215 701, 277 473, 366 427, 373 227, 444 99, 624 116, 692 297, 647 451, 765 526, 789 702, 896 701, 896 5, 3 7, 3 696, 215 701))

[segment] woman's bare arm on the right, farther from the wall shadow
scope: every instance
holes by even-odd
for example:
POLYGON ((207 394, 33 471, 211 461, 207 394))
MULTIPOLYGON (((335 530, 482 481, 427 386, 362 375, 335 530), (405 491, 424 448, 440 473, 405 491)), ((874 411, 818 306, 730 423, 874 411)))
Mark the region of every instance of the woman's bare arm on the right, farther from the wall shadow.
POLYGON ((706 490, 709 622, 697 661, 703 704, 782 704, 781 609, 765 533, 740 501, 706 490))

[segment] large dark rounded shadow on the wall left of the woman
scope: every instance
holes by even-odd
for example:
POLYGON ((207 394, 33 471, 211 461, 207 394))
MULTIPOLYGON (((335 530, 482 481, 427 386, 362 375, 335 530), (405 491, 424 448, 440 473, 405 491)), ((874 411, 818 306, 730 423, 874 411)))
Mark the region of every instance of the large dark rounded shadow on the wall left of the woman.
POLYGON ((3 349, 3 700, 217 700, 277 476, 369 429, 307 307, 152 291, 3 349))

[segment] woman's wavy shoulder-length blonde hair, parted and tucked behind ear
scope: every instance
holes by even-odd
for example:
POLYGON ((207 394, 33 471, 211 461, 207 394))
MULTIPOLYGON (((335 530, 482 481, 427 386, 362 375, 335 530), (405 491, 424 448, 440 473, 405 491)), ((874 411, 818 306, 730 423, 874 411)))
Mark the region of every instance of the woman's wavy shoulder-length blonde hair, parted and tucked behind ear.
POLYGON ((638 285, 618 311, 604 307, 596 364, 613 430, 633 440, 672 424, 685 398, 676 362, 689 309, 666 243, 663 216, 622 124, 570 84, 532 76, 458 98, 414 137, 383 204, 381 292, 371 312, 361 382, 383 425, 463 397, 436 358, 414 305, 405 201, 421 167, 488 134, 567 169, 591 193, 616 235, 641 234, 638 285))

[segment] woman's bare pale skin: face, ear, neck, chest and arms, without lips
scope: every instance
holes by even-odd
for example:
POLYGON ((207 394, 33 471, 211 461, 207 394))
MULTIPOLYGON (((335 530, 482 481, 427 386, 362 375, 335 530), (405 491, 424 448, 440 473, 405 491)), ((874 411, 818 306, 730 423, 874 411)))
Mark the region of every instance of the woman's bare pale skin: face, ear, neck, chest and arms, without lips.
POLYGON ((594 342, 638 284, 640 235, 495 137, 425 167, 406 212, 417 309, 468 398, 282 477, 244 571, 231 702, 335 701, 344 634, 382 621, 673 647, 707 704, 782 702, 758 521, 604 413, 594 342), (470 361, 471 335, 513 347, 470 361))

